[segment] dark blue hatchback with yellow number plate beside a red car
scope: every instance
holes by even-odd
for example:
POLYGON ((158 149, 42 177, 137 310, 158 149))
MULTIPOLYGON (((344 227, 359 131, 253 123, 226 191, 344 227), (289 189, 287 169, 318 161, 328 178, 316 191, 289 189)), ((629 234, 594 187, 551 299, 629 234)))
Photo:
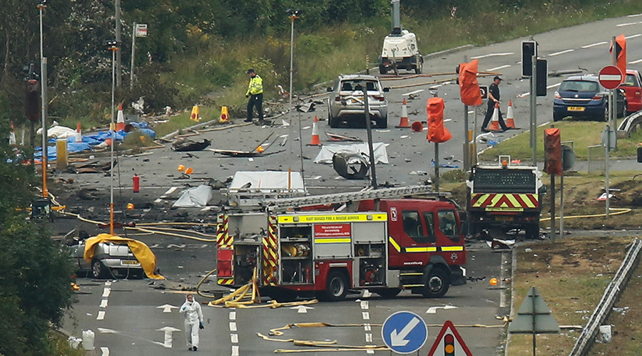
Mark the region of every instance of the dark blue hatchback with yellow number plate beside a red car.
MULTIPOLYGON (((623 90, 616 89, 617 116, 626 112, 623 90)), ((603 88, 596 75, 572 75, 566 78, 554 94, 553 120, 564 117, 582 117, 608 121, 608 90, 603 88)))

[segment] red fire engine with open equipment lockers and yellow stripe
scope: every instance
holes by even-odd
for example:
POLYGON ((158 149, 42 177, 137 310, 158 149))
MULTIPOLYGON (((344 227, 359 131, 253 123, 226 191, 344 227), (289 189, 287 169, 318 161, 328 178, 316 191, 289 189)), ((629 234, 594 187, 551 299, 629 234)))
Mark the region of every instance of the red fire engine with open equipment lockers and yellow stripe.
POLYGON ((255 277, 262 295, 277 300, 342 300, 349 290, 363 289, 386 298, 404 289, 442 297, 449 286, 466 283, 457 206, 444 193, 382 199, 427 189, 279 199, 266 211, 221 214, 218 283, 240 287, 255 277), (352 204, 342 211, 287 211, 337 201, 352 204))

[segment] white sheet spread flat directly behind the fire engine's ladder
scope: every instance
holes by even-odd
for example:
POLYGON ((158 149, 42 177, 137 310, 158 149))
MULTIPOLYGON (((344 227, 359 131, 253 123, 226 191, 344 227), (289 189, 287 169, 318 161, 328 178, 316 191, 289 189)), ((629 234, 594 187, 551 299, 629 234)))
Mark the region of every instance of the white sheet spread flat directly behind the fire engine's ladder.
MULTIPOLYGON (((332 160, 332 158, 330 158, 332 160)), ((303 178, 300 172, 276 171, 240 171, 234 174, 230 184, 230 193, 238 192, 301 192, 305 193, 303 178), (290 178, 288 179, 288 175, 290 178), (288 189, 288 182, 290 189, 288 189)))

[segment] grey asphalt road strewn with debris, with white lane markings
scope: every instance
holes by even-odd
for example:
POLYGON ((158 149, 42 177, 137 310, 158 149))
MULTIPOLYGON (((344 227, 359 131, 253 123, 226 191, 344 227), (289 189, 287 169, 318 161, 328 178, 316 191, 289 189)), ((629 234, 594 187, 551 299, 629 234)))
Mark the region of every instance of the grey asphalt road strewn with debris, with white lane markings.
MULTIPOLYGON (((624 33, 627 36, 627 56, 632 67, 642 63, 642 16, 608 19, 581 26, 564 28, 535 36, 539 42, 540 57, 546 58, 551 70, 572 70, 578 67, 586 68, 587 73, 597 73, 600 68, 610 63, 608 43, 611 36, 624 33)), ((515 121, 518 127, 528 126, 529 91, 528 80, 521 79, 521 40, 497 43, 483 48, 469 48, 456 53, 442 53, 427 58, 424 63, 424 73, 453 73, 457 63, 479 59, 479 70, 501 73, 504 81, 501 84, 502 110, 506 110, 508 100, 514 105, 515 121)), ((552 117, 552 93, 563 78, 549 78, 549 95, 538 98, 537 122, 544 125, 552 117)), ((481 78, 481 85, 489 85, 491 78, 481 78)), ((389 164, 377 165, 377 181, 379 183, 408 185, 423 182, 433 172, 434 145, 429 144, 425 132, 413 133, 409 129, 397 129, 401 103, 407 99, 409 120, 426 119, 425 105, 431 91, 446 102, 446 125, 453 133, 453 139, 439 146, 440 163, 461 165, 463 159, 462 144, 464 142, 463 105, 459 101, 459 88, 454 83, 454 75, 437 77, 402 78, 386 80, 384 85, 394 87, 387 98, 389 100, 389 129, 374 130, 374 142, 384 142, 387 145, 389 164), (451 83, 434 84, 434 80, 451 78, 451 83), (397 88, 399 87, 399 88, 397 88), (445 158, 449 159, 445 159, 445 158)), ((323 97, 319 97, 322 99, 323 97)), ((481 108, 485 108, 485 104, 481 108)), ((483 113, 478 110, 478 125, 483 113)), ((114 184, 121 189, 115 191, 116 219, 121 222, 129 221, 209 221, 213 222, 215 214, 203 209, 172 209, 171 204, 178 198, 181 188, 207 183, 210 179, 224 181, 236 171, 263 170, 300 170, 303 167, 305 183, 309 192, 320 194, 342 190, 357 190, 368 185, 367 181, 346 180, 337 175, 330 165, 316 164, 314 158, 320 147, 307 146, 310 142, 312 120, 327 117, 325 105, 317 105, 314 112, 295 112, 279 117, 272 126, 245 125, 229 127, 227 130, 203 132, 192 137, 193 140, 207 138, 212 147, 225 150, 252 150, 265 137, 272 134, 266 154, 255 158, 230 158, 217 155, 214 152, 193 152, 188 156, 173 152, 169 147, 150 150, 143 155, 120 156, 118 158, 116 180, 114 184), (290 125, 282 125, 286 120, 290 125), (300 124, 300 125, 299 125, 300 124), (273 133, 272 133, 273 132, 273 133), (285 142, 285 143, 284 143, 285 142), (282 151, 282 152, 279 152, 282 151), (188 179, 179 179, 180 173, 176 167, 183 164, 192 167, 194 173, 188 179), (131 177, 141 176, 141 192, 131 192, 131 177), (173 192, 170 193, 170 190, 173 192), (133 203, 136 208, 123 211, 123 206, 133 203)), ((474 115, 471 112, 470 125, 473 127, 474 115)), ((233 119, 242 122, 241 118, 233 119)), ((231 126, 231 125, 230 125, 231 126)), ((327 122, 320 122, 320 137, 322 144, 327 144, 324 131, 341 135, 366 139, 362 128, 345 127, 330 130, 327 122)), ((506 140, 521 132, 510 130, 496 136, 506 140)), ((564 133, 562 133, 564 135, 564 133)), ((581 145, 581 142, 576 142, 581 145)), ((485 147, 479 147, 483 149, 485 147)), ((528 161, 530 157, 515 157, 528 161)), ((103 162, 106 158, 102 158, 103 162)), ((442 169, 442 172, 445 169, 442 169)), ((60 179, 56 189, 56 197, 67 210, 81 216, 107 221, 110 179, 101 174, 54 174, 53 179, 60 179), (73 178, 73 183, 69 181, 73 178), (64 183, 63 183, 64 181, 64 183)), ((217 201, 213 201, 216 204, 217 201)), ((66 234, 73 228, 86 229, 90 234, 99 231, 95 226, 80 223, 76 220, 62 219, 56 221, 54 232, 66 234)), ((211 232, 211 231, 210 231, 211 232)), ((118 230, 118 234, 123 231, 118 230)), ((128 231, 131 234, 132 231, 128 231)), ((168 281, 165 289, 156 289, 159 283, 152 286, 151 281, 117 281, 106 285, 106 281, 92 281, 86 278, 79 280, 81 294, 73 310, 73 318, 65 323, 65 328, 73 335, 80 336, 81 330, 91 329, 96 332, 96 350, 98 355, 175 355, 178 350, 185 350, 182 332, 181 315, 170 308, 170 313, 163 313, 161 305, 177 306, 183 302, 184 296, 180 289, 194 286, 200 278, 215 267, 215 246, 200 241, 185 241, 173 236, 131 236, 145 241, 152 246, 156 253, 158 266, 168 281), (106 293, 106 288, 110 288, 106 293), (108 295, 103 297, 103 295, 108 295), (103 300, 107 302, 103 302, 103 300), (106 307, 100 305, 106 303, 106 307), (98 319, 102 313, 102 318, 98 319), (74 321, 75 320, 75 321, 74 321), (173 335, 172 347, 168 348, 168 339, 164 327, 179 331, 167 333, 173 335), (101 329, 98 329, 101 328, 101 329), (106 349, 101 349, 106 347, 106 349)), ((455 325, 484 324, 499 325, 495 315, 508 315, 509 300, 502 297, 501 290, 489 289, 488 279, 498 276, 509 266, 509 259, 500 261, 501 253, 491 253, 483 246, 472 246, 469 254, 469 276, 486 277, 486 280, 469 283, 467 286, 452 288, 446 298, 425 300, 402 293, 400 298, 381 300, 369 298, 367 311, 372 324, 372 339, 368 339, 367 330, 360 328, 326 328, 319 330, 295 329, 283 337, 302 338, 304 340, 337 340, 339 344, 364 345, 366 342, 380 345, 382 343, 380 329, 374 324, 382 323, 388 315, 397 310, 410 310, 422 315, 429 325, 441 325, 445 320, 453 320, 455 325), (478 251, 474 251, 474 250, 478 251), (431 306, 453 305, 456 309, 439 309, 435 314, 427 314, 431 306)), ((507 276, 507 275, 506 275, 507 276)), ((207 286, 206 289, 214 289, 207 286)), ((203 342, 200 350, 210 355, 268 355, 277 348, 292 348, 286 343, 260 340, 255 333, 267 334, 270 328, 280 327, 289 323, 302 321, 324 321, 327 323, 366 323, 365 309, 362 303, 357 303, 355 297, 341 303, 319 303, 312 305, 313 310, 306 314, 289 309, 250 309, 235 310, 236 320, 230 320, 228 309, 204 308, 208 323, 201 333, 203 342), (234 323, 234 324, 233 324, 234 323), (234 325, 234 326, 233 326, 234 325), (236 332, 230 330, 236 328, 236 332), (235 341, 237 335, 238 342, 235 341), (235 349, 234 345, 239 348, 235 349), (236 351, 235 351, 236 350, 236 351)), ((201 298, 202 299, 202 298, 201 298)), ((459 333, 471 347, 474 355, 496 355, 501 352, 503 330, 501 328, 458 328, 459 333)), ((429 328, 426 345, 420 350, 427 353, 429 346, 438 333, 438 327, 429 328)), ((389 351, 375 352, 388 355, 389 351)), ((354 354, 354 352, 351 352, 354 354)))

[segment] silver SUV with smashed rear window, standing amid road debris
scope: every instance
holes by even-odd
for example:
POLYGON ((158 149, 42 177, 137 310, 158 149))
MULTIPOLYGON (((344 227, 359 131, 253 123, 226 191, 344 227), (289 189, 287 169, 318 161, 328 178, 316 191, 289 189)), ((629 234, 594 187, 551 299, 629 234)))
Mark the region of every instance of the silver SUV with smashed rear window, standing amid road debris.
POLYGON ((383 88, 379 78, 374 75, 362 74, 339 75, 334 88, 327 88, 331 92, 327 99, 327 124, 330 127, 339 127, 343 122, 365 123, 364 86, 370 120, 377 122, 379 128, 388 127, 388 102, 384 93, 390 88, 383 88))

